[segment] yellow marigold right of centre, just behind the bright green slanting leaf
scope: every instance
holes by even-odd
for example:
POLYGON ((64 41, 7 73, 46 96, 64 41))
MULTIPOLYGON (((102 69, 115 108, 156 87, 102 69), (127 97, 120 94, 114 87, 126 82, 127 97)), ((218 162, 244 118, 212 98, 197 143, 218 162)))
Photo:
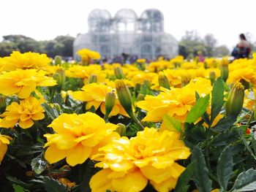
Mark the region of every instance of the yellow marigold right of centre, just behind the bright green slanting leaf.
POLYGON ((211 89, 210 80, 197 78, 183 88, 161 88, 162 92, 158 96, 146 96, 144 101, 138 101, 137 106, 146 110, 145 121, 159 122, 167 114, 184 123, 195 104, 195 91, 200 96, 206 96, 211 89))

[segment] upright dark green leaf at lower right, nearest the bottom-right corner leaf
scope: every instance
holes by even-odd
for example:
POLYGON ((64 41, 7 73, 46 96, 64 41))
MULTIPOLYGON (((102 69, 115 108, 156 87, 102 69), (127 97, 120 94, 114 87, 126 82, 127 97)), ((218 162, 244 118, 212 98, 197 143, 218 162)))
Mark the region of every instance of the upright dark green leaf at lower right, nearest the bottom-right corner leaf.
POLYGON ((225 147, 219 156, 217 164, 217 177, 221 188, 227 190, 227 183, 233 171, 233 156, 230 146, 225 147))

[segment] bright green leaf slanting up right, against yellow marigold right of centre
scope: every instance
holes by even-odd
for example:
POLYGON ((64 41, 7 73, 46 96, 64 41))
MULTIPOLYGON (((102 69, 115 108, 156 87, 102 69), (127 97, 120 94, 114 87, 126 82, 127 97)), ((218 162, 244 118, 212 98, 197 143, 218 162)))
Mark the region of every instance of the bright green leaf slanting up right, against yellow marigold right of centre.
POLYGON ((205 97, 200 97, 200 99, 197 100, 195 105, 192 107, 192 109, 189 111, 189 114, 187 115, 186 122, 187 123, 195 123, 195 121, 200 118, 204 112, 206 112, 206 108, 209 104, 210 95, 207 95, 205 97))

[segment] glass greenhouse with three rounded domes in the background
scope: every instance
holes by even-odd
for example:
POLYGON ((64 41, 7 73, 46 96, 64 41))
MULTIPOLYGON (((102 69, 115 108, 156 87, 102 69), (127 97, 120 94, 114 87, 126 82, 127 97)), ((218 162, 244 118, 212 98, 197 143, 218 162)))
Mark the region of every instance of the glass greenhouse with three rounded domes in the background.
POLYGON ((178 55, 178 42, 164 31, 164 17, 157 9, 146 9, 140 18, 132 9, 121 9, 112 18, 105 9, 94 9, 88 18, 89 32, 79 34, 74 42, 74 55, 88 48, 98 51, 102 58, 154 59, 178 55))

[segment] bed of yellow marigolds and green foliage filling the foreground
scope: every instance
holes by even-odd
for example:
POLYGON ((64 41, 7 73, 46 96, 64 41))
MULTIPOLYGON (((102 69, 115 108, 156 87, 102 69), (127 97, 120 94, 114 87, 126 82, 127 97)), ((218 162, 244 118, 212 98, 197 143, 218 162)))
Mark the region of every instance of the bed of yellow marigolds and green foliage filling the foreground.
POLYGON ((0 58, 3 191, 256 190, 256 55, 0 58))

